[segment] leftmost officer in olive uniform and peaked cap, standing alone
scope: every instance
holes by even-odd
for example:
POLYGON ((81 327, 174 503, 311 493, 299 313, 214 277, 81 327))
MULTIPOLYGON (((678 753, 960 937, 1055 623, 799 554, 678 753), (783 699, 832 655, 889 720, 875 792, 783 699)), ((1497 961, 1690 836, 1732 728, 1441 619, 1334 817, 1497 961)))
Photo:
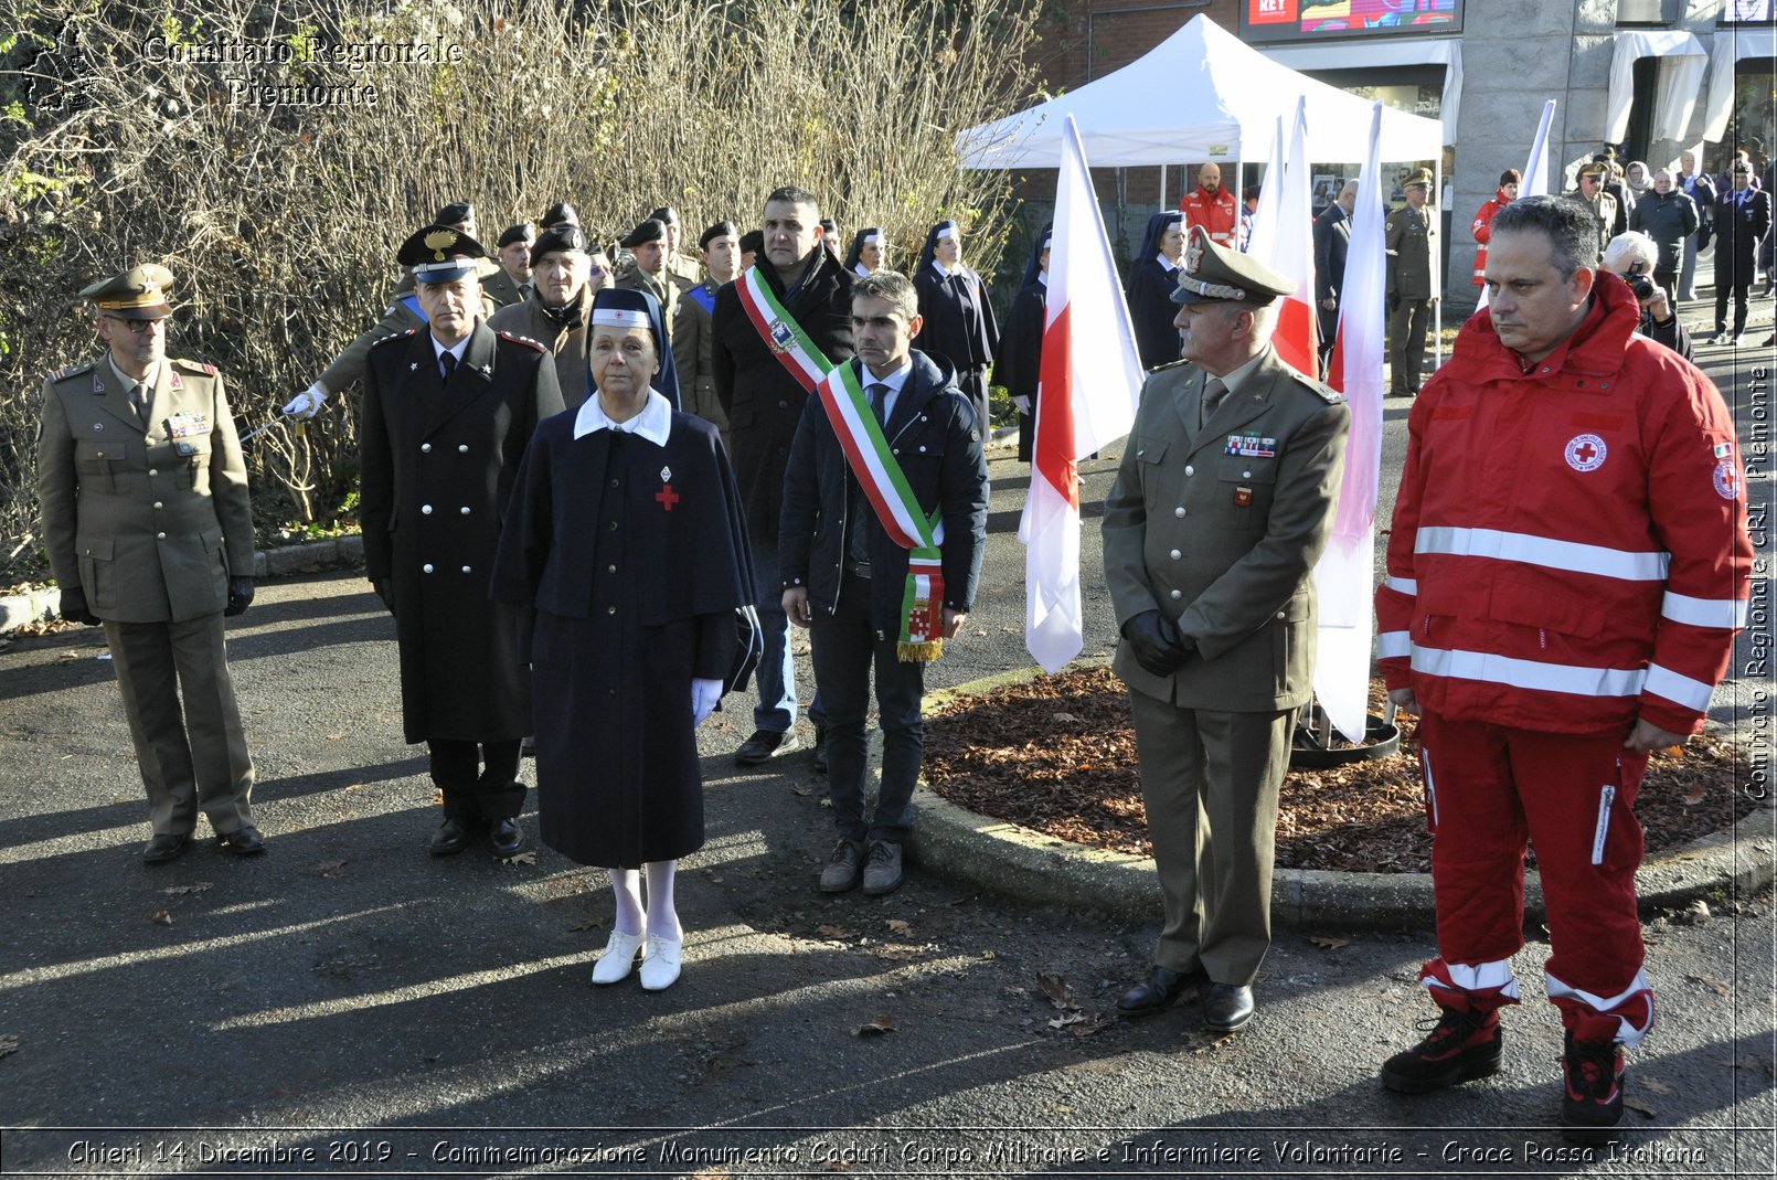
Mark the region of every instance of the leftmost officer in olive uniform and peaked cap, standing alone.
POLYGON ((165 267, 137 267, 80 291, 108 352, 44 382, 37 435, 62 615, 105 626, 147 787, 149 864, 185 851, 199 810, 231 851, 265 849, 222 643, 222 617, 252 601, 247 466, 222 377, 165 355, 171 286, 165 267))

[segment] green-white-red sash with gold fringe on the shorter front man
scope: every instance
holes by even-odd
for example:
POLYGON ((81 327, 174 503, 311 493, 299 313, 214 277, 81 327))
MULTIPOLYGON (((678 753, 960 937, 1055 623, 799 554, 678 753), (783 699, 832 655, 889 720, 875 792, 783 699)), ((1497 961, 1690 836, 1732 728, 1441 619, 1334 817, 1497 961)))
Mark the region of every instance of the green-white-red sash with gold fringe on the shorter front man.
POLYGON ((814 393, 883 531, 908 551, 896 656, 908 663, 936 659, 944 654, 944 554, 938 549, 944 521, 936 510, 929 517, 920 510, 851 364, 832 368, 814 393))

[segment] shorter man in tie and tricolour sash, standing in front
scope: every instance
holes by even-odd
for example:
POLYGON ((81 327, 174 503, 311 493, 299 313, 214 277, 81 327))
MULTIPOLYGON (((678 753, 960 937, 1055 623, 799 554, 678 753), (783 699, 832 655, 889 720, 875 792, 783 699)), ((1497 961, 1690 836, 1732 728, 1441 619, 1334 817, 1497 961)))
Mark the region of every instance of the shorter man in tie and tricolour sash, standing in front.
POLYGON ((851 288, 858 359, 826 373, 803 409, 778 528, 784 611, 814 636, 839 844, 821 889, 901 883, 924 757, 924 666, 968 613, 988 526, 981 428, 956 375, 910 345, 920 329, 906 275, 851 288), (883 727, 876 814, 864 814, 871 670, 883 727))

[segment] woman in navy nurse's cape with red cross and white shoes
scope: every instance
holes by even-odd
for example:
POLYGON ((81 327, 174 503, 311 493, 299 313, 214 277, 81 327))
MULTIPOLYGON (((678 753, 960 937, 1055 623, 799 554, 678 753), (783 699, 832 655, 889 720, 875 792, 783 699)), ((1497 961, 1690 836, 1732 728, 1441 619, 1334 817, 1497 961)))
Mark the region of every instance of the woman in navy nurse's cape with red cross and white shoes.
POLYGON ((753 585, 721 439, 657 386, 665 341, 652 295, 597 293, 592 395, 537 428, 492 579, 535 620, 542 839, 611 871, 617 915, 592 979, 627 977, 643 951, 647 990, 679 977, 673 876, 704 844, 697 725, 727 690, 753 585))

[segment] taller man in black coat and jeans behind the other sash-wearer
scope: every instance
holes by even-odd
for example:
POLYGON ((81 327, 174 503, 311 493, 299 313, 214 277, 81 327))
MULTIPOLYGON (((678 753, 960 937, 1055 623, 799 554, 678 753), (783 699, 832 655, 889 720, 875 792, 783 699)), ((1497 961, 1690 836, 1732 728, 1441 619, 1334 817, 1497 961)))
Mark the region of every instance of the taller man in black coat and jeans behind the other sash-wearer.
POLYGON ((778 579, 784 464, 814 380, 851 357, 851 275, 821 249, 814 194, 775 190, 766 197, 762 231, 764 258, 716 293, 709 352, 746 505, 764 633, 753 736, 734 755, 741 766, 796 748, 796 674, 778 579))

